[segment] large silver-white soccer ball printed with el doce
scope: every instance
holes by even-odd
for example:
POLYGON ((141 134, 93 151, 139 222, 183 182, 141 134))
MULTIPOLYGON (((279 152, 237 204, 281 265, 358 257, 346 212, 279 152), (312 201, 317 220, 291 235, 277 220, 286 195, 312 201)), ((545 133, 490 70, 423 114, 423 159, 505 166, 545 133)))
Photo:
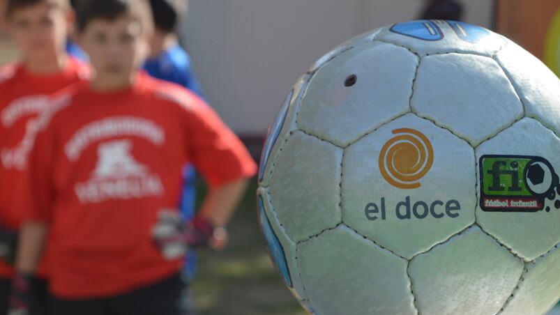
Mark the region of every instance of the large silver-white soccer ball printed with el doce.
POLYGON ((560 81, 503 36, 399 23, 289 92, 259 222, 312 314, 543 314, 560 298, 560 81))

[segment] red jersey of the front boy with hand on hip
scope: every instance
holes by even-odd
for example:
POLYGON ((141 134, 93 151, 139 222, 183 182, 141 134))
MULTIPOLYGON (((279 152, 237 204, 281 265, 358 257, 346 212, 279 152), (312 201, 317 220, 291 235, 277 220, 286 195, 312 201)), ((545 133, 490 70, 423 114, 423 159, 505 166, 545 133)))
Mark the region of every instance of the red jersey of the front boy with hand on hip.
POLYGON ((117 295, 178 272, 181 259, 166 261, 151 231, 179 204, 186 162, 212 186, 256 171, 209 106, 144 74, 126 91, 85 87, 56 107, 22 201, 27 220, 50 223, 50 285, 61 298, 117 295))

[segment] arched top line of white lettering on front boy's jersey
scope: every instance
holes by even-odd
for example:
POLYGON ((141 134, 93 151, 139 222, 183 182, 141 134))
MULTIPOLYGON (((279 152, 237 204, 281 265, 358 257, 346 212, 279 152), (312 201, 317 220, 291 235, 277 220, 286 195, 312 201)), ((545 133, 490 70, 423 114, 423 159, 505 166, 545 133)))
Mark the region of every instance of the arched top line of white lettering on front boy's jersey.
POLYGON ((85 125, 66 143, 64 152, 68 160, 76 161, 92 142, 123 136, 142 137, 156 146, 165 144, 163 128, 153 121, 135 116, 115 116, 85 125))

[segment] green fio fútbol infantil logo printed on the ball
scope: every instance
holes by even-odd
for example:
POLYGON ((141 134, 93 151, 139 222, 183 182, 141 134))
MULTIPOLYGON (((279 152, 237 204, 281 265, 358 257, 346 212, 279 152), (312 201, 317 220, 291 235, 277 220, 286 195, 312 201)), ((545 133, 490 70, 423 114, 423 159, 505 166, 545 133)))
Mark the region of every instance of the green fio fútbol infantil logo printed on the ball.
MULTIPOLYGON (((559 176, 543 157, 483 155, 478 166, 484 211, 536 212, 545 209, 545 199, 560 194, 559 176)), ((560 203, 554 206, 560 208, 560 203)))

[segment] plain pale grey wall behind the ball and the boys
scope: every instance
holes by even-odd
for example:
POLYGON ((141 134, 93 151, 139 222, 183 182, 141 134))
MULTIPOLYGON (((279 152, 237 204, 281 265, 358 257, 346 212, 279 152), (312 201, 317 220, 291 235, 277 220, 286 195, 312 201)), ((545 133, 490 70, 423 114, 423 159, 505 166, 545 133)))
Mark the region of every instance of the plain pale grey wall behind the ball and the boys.
MULTIPOLYGON (((490 0, 463 0, 490 26, 490 0)), ((241 135, 262 135, 312 63, 348 38, 413 20, 422 0, 190 0, 183 43, 209 102, 241 135)))

